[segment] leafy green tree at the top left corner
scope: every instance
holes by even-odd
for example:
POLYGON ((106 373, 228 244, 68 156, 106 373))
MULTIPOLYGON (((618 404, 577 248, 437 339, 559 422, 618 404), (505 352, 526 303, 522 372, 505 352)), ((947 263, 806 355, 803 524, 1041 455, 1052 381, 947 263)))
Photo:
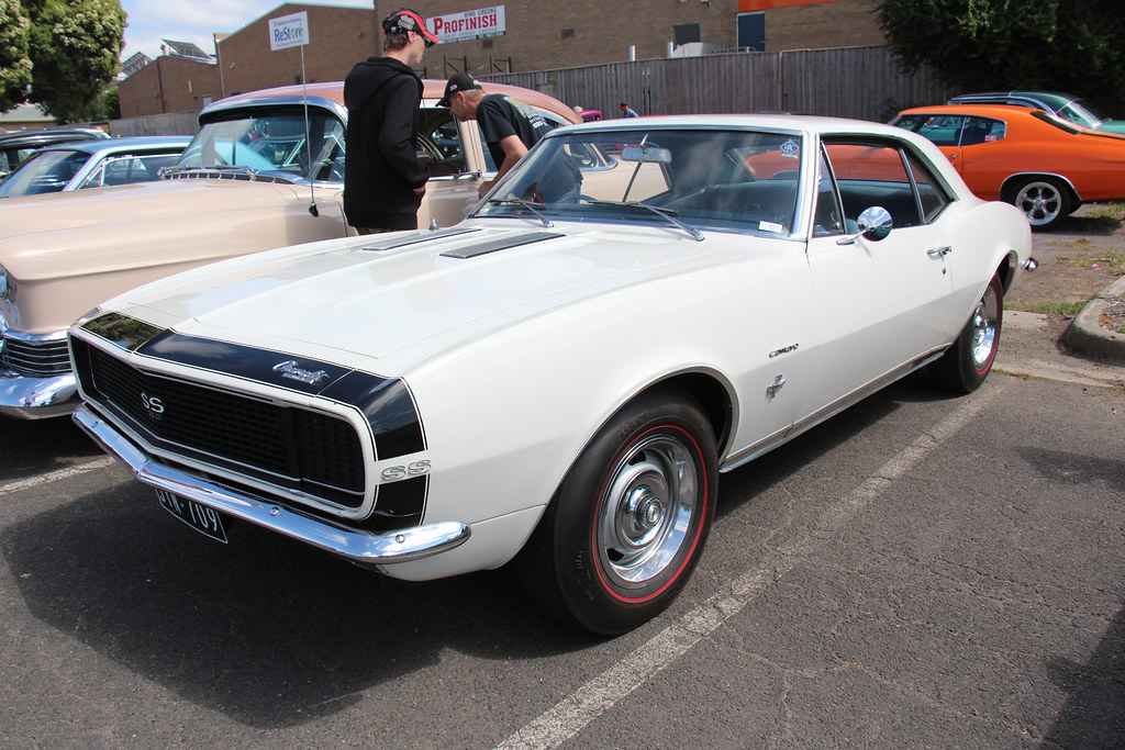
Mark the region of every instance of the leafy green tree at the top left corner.
POLYGON ((32 101, 82 119, 120 67, 124 33, 120 0, 0 0, 0 111, 32 101))

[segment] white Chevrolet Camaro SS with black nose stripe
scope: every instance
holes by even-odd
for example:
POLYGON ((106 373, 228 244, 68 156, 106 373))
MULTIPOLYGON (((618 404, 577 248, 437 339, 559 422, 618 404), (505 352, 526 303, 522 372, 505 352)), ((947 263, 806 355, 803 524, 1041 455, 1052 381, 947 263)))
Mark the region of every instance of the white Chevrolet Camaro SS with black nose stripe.
POLYGON ((659 613, 717 479, 925 369, 969 392, 1027 219, 872 123, 552 132, 450 228, 141 287, 70 332, 78 423, 159 501, 396 578, 508 562, 600 633, 659 613))

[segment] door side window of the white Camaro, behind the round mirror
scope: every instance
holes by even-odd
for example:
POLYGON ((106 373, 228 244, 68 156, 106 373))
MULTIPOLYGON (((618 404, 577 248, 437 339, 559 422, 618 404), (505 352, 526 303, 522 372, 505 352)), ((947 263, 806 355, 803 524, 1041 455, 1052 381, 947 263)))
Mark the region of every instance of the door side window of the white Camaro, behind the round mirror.
POLYGON ((914 181, 902 153, 881 144, 828 143, 825 152, 836 175, 845 219, 855 220, 865 209, 882 206, 894 227, 922 224, 914 181))

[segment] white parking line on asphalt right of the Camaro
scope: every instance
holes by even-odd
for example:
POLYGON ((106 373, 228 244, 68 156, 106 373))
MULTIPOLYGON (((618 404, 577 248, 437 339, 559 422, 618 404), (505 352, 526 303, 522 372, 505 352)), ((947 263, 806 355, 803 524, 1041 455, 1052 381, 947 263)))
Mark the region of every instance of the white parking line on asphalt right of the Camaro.
POLYGON ((1000 385, 996 383, 997 379, 993 379, 990 382, 992 388, 966 398, 953 414, 929 432, 919 435, 863 484, 836 500, 820 515, 804 539, 780 548, 771 564, 748 571, 734 580, 726 590, 688 612, 609 670, 525 724, 498 744, 496 750, 547 750, 580 732, 662 669, 687 653, 729 617, 741 612, 772 582, 808 561, 819 548, 830 543, 857 513, 882 495, 892 482, 981 414, 1004 391, 1008 379, 1002 379, 1000 385))

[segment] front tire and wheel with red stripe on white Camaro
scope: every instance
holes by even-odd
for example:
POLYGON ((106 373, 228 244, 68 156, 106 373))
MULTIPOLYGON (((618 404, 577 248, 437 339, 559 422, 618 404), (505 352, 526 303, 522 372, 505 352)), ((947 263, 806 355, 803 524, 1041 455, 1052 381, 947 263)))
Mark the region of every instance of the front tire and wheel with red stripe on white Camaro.
POLYGON ((615 635, 667 607, 714 517, 716 437, 687 394, 639 396, 567 472, 521 552, 521 579, 549 612, 615 635))

